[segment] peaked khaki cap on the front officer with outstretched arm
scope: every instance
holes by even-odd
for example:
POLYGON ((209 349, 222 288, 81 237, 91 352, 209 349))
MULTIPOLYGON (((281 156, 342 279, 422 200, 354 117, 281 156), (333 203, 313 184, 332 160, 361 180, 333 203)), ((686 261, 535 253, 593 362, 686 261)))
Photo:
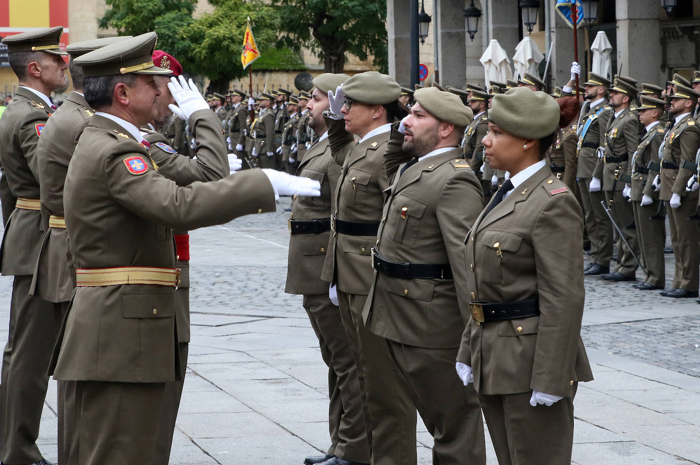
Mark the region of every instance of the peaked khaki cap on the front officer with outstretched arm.
POLYGON ((83 68, 83 76, 111 76, 114 74, 172 74, 153 64, 153 49, 158 36, 146 32, 140 36, 118 41, 85 53, 73 62, 83 68))

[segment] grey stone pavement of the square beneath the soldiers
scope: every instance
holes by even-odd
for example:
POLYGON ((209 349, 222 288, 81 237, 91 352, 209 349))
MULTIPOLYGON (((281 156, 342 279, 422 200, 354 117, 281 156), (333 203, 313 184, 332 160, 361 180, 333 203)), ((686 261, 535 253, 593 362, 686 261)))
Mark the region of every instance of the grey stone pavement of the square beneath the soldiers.
MULTIPOLYGON (((300 465, 329 445, 318 340, 301 297, 283 292, 288 204, 190 233, 192 341, 171 464, 300 465)), ((11 284, 0 278, 3 341, 11 284)), ((700 305, 594 277, 586 289, 582 337, 596 379, 577 391, 572 463, 700 464, 700 305)), ((52 460, 55 411, 52 381, 38 440, 52 460)), ((420 420, 416 431, 428 465, 432 438, 420 420)))

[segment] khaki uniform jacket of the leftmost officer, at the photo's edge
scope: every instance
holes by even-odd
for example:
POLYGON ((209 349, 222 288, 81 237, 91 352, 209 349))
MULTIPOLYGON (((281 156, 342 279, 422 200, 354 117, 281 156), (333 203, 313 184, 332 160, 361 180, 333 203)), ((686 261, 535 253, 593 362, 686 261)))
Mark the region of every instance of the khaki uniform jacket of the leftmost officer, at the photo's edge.
MULTIPOLYGON (((1 190, 3 211, 15 206, 17 197, 38 199, 40 195, 36 145, 39 134, 52 113, 49 102, 34 92, 18 88, 15 99, 0 121, 0 165, 3 182, 9 190, 1 190)), ((0 246, 3 275, 33 275, 43 239, 41 213, 38 210, 15 208, 6 224, 0 246)))

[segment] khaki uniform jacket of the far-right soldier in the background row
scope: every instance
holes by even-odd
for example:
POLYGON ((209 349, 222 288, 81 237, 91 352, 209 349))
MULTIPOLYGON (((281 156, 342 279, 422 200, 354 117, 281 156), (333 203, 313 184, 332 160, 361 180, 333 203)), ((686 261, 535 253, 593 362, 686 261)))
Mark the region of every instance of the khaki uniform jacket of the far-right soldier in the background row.
POLYGON ((678 163, 679 169, 661 167, 659 199, 671 200, 672 194, 678 194, 680 197, 696 200, 698 198, 697 190, 695 192, 685 190, 688 179, 695 174, 695 170, 688 169, 690 166, 684 168, 682 165, 684 161, 691 165, 695 164, 695 154, 700 148, 700 129, 698 129, 692 114, 687 114, 678 123, 672 120, 672 124, 673 126, 664 137, 661 160, 678 163))

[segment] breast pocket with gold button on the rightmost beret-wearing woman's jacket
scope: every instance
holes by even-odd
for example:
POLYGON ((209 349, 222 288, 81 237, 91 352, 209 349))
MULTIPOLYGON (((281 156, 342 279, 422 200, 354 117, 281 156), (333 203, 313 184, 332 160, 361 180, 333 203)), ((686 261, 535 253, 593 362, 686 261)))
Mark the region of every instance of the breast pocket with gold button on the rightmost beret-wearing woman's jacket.
POLYGON ((517 232, 488 230, 480 237, 482 243, 481 261, 477 264, 477 279, 485 282, 503 283, 503 262, 509 260, 520 248, 523 240, 517 232))

